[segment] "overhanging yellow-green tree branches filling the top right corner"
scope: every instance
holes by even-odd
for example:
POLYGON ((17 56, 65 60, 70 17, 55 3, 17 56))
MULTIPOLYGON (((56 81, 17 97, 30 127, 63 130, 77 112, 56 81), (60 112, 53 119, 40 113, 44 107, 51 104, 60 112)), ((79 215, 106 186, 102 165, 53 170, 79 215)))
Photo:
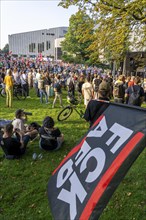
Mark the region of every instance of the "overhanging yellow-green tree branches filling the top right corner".
POLYGON ((144 49, 146 42, 146 0, 66 0, 61 6, 76 5, 86 11, 95 23, 92 59, 123 60, 133 46, 144 49))

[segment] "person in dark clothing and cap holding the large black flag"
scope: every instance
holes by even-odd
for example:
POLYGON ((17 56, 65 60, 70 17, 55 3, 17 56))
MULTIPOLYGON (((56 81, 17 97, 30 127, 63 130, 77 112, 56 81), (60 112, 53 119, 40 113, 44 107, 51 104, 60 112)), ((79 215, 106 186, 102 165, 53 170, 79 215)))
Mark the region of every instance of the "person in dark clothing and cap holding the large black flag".
POLYGON ((96 119, 105 111, 109 106, 109 91, 99 90, 98 99, 92 99, 86 108, 84 119, 90 123, 90 127, 94 124, 96 119))

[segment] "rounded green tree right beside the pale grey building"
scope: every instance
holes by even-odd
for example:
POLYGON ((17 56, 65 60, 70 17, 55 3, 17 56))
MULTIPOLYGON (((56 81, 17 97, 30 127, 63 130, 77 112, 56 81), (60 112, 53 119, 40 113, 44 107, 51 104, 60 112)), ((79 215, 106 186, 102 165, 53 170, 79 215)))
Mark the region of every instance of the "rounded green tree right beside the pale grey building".
POLYGON ((65 40, 61 43, 62 50, 80 62, 89 60, 88 47, 92 43, 93 27, 93 20, 84 11, 72 15, 65 40))

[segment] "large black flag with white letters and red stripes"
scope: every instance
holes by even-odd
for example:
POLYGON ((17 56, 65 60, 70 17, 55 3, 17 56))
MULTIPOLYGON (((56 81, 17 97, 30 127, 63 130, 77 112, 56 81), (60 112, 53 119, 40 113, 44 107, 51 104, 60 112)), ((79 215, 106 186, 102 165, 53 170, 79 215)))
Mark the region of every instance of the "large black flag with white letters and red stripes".
POLYGON ((54 219, 97 220, 145 147, 146 109, 110 104, 49 180, 54 219))

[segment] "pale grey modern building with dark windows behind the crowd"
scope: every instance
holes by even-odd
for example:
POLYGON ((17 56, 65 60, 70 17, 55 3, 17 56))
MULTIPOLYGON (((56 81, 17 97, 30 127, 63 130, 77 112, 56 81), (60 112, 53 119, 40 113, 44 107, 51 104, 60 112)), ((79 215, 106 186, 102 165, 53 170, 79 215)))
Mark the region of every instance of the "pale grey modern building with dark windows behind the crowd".
POLYGON ((9 35, 9 51, 12 55, 36 57, 60 57, 60 41, 68 27, 57 27, 9 35))

